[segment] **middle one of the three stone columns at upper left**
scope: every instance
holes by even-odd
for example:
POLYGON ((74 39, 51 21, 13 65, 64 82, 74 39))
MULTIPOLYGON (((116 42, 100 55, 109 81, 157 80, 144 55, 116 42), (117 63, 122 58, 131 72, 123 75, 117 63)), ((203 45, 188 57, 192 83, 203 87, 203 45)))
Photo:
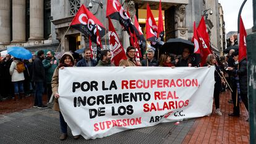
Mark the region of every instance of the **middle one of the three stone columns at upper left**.
POLYGON ((12 0, 12 43, 25 42, 25 0, 12 0))

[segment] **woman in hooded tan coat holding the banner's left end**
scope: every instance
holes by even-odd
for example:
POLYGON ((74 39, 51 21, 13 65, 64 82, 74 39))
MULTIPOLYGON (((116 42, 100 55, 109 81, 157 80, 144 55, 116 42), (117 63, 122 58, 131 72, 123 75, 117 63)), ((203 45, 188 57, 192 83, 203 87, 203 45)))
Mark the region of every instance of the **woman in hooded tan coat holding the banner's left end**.
MULTIPOLYGON (((59 109, 59 103, 58 103, 58 98, 59 98, 59 93, 58 93, 58 87, 59 87, 59 69, 64 69, 64 67, 74 67, 75 61, 74 57, 72 56, 71 53, 66 52, 63 54, 61 57, 61 60, 59 61, 59 66, 56 67, 54 70, 53 74, 53 79, 51 80, 51 87, 54 93, 54 104, 53 104, 53 110, 54 111, 59 111, 59 122, 61 124, 61 137, 59 137, 59 140, 66 140, 67 138, 67 123, 65 122, 61 111, 59 109)), ((74 139, 78 139, 80 135, 74 136, 74 139)))

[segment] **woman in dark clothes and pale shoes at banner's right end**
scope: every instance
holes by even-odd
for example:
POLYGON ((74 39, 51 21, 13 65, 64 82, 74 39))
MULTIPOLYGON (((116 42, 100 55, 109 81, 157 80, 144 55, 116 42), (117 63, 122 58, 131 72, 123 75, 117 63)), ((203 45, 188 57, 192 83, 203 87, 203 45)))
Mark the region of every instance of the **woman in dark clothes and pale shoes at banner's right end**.
POLYGON ((215 66, 214 78, 215 78, 215 85, 214 85, 214 93, 213 98, 215 102, 216 114, 222 116, 220 110, 220 91, 221 91, 221 71, 220 67, 216 65, 216 57, 214 54, 209 54, 207 56, 205 66, 215 66))

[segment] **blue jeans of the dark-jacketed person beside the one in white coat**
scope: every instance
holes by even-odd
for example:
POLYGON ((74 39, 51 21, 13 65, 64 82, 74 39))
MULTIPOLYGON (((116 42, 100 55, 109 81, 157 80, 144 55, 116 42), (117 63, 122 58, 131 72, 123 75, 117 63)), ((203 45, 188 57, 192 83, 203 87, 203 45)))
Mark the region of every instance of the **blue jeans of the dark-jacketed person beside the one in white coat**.
POLYGON ((35 82, 35 106, 42 106, 43 82, 35 82))

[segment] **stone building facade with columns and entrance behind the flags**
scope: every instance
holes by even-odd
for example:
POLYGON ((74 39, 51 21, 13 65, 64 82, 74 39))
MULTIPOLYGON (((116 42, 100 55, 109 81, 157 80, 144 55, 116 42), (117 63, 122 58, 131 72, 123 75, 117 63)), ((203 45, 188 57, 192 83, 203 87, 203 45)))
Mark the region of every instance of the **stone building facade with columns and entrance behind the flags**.
MULTIPOLYGON (((119 0, 131 15, 139 10, 158 10, 158 0, 119 0)), ((191 40, 193 22, 200 21, 205 9, 211 9, 207 27, 211 36, 211 46, 220 48, 220 14, 218 0, 162 0, 164 29, 166 40, 184 38, 191 40)), ((30 51, 54 49, 75 51, 88 46, 88 38, 69 24, 81 4, 84 4, 108 29, 106 20, 106 1, 102 0, 0 0, 0 51, 10 46, 24 46, 30 51), (92 7, 88 7, 89 4, 92 7), (54 7, 54 9, 53 9, 54 7), (69 28, 69 30, 67 30, 69 28), (59 44, 60 43, 60 44, 59 44)), ((144 17, 139 19, 145 19, 144 17)), ((158 19, 158 18, 157 18, 158 19)), ((124 48, 129 44, 126 32, 123 32, 117 20, 112 20, 124 48)), ((145 24, 140 23, 145 30, 145 24)), ((145 31, 144 31, 145 32, 145 31)), ((108 34, 101 40, 108 47, 108 34)))

